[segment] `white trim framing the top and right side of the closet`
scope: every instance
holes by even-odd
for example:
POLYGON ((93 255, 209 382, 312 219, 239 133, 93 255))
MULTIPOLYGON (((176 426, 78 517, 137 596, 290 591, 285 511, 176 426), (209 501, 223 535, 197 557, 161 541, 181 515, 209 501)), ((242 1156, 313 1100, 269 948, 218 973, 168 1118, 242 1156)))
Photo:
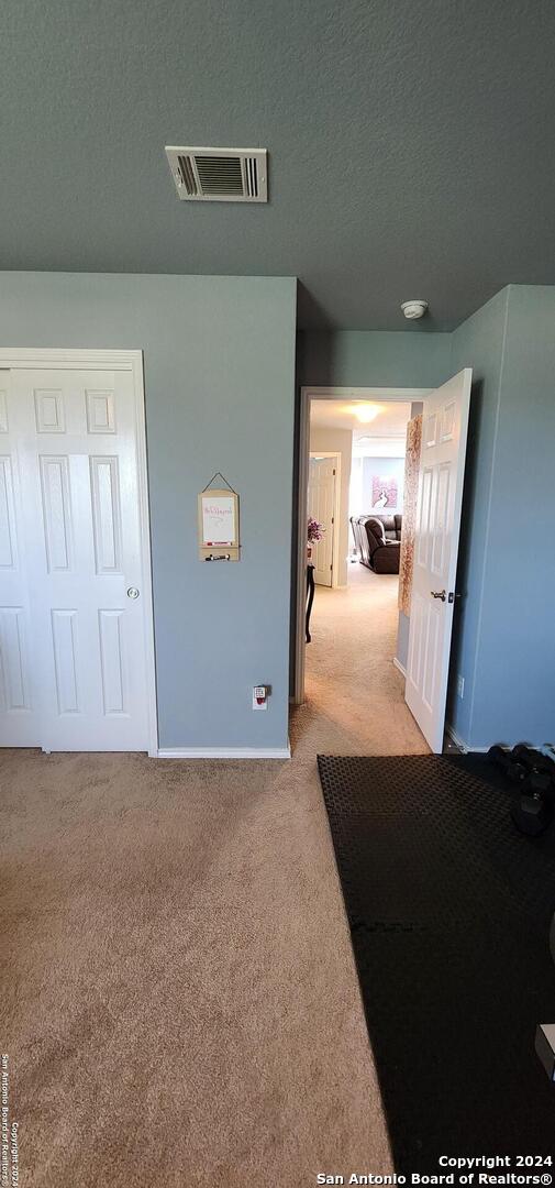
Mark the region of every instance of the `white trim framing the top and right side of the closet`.
POLYGON ((143 592, 145 665, 147 677, 147 751, 158 754, 157 669, 154 655, 154 613, 152 598, 151 517, 146 449, 145 373, 142 350, 92 350, 50 347, 0 347, 0 368, 31 371, 127 371, 133 377, 135 399, 139 530, 141 536, 141 581, 143 592))

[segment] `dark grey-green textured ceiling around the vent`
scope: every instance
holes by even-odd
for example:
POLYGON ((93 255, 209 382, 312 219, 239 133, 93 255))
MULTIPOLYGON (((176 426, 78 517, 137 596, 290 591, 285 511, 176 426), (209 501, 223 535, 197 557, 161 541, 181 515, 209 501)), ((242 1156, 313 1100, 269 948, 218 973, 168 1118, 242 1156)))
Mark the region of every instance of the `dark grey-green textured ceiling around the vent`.
POLYGON ((300 322, 451 329, 555 283, 553 0, 4 0, 1 267, 298 276, 300 322), (268 206, 165 144, 262 146, 268 206))

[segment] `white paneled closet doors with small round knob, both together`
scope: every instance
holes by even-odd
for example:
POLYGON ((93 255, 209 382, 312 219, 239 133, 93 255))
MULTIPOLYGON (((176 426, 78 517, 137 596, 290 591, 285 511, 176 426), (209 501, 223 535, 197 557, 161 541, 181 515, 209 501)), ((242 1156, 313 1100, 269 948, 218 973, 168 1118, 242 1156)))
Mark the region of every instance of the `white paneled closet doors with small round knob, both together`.
POLYGON ((18 474, 6 506, 25 571, 8 570, 0 600, 1 741, 148 750, 151 602, 134 373, 14 368, 6 406, 18 474), (14 714, 25 699, 24 735, 14 714))

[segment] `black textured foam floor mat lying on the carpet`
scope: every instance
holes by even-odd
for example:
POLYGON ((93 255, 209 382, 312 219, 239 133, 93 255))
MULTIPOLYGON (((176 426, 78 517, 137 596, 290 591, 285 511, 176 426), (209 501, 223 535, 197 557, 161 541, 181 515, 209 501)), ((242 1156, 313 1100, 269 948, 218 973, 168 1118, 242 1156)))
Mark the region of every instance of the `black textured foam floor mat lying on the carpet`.
POLYGON ((555 826, 523 836, 508 794, 451 759, 318 765, 397 1171, 553 1156, 534 1041, 555 1020, 555 826))

